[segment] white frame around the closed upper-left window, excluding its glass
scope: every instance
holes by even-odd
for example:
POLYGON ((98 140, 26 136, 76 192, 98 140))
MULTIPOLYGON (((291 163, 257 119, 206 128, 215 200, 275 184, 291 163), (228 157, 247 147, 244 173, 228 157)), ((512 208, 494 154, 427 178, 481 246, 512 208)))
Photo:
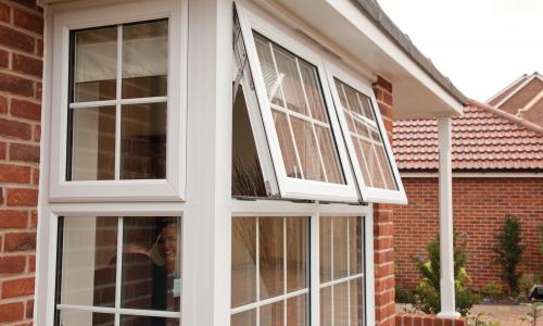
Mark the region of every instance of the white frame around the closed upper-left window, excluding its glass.
MULTIPOLYGON (((54 15, 52 37, 53 53, 50 58, 54 68, 50 79, 52 86, 49 88, 52 101, 50 108, 45 108, 52 117, 49 200, 103 202, 185 199, 188 1, 155 0, 75 8, 54 15), (157 18, 168 18, 165 179, 66 180, 67 110, 73 110, 68 109, 68 72, 73 68, 70 66, 70 30, 157 18)), ((113 102, 119 101, 126 100, 113 102)), ((117 128, 118 125, 117 122, 117 128)))

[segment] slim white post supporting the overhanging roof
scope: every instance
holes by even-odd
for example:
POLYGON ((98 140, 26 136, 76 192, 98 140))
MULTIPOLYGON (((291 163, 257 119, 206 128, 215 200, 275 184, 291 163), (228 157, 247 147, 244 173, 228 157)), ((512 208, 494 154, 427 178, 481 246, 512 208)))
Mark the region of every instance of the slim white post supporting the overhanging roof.
POLYGON ((453 170, 451 158, 451 117, 440 117, 439 139, 439 191, 440 191, 440 264, 441 264, 441 312, 439 317, 458 318, 454 291, 453 249, 453 170))

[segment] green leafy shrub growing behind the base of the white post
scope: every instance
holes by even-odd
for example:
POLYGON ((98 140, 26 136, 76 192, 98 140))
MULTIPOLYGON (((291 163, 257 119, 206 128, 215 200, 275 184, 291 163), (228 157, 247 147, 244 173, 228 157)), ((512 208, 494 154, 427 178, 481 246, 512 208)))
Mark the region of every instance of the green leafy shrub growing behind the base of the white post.
MULTIPOLYGON (((422 279, 415 291, 415 308, 425 312, 437 314, 441 311, 440 301, 440 244, 434 238, 427 247, 428 261, 413 258, 422 279)), ((458 241, 458 235, 454 234, 454 276, 456 292, 456 310, 466 315, 473 304, 480 301, 479 296, 467 288, 470 280, 466 272, 466 243, 458 241)))

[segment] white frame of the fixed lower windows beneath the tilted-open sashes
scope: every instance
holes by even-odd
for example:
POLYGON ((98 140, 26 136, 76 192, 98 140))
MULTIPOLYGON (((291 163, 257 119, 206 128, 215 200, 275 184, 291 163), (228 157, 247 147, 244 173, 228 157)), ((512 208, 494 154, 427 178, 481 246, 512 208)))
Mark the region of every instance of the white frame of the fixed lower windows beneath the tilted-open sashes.
MULTIPOLYGON (((308 255, 310 261, 307 262, 307 267, 310 269, 310 305, 306 309, 310 310, 308 325, 319 326, 320 325, 320 289, 323 285, 320 284, 320 259, 319 259, 319 222, 321 216, 359 216, 364 223, 364 250, 363 255, 363 288, 364 288, 364 321, 365 326, 375 325, 375 278, 374 278, 374 214, 372 205, 350 205, 343 203, 330 203, 330 204, 319 204, 319 203, 298 203, 289 201, 277 201, 277 200, 231 200, 232 217, 290 217, 290 216, 301 216, 310 217, 310 247, 308 255)), ((333 217, 332 217, 333 218, 333 217)), ((358 277, 358 274, 356 276, 358 277)), ((337 280, 341 281, 344 278, 337 280)), ((260 281, 260 280, 258 280, 260 281)), ((336 280, 332 280, 334 283, 336 280)), ((326 285, 328 285, 327 283, 326 285)), ((325 286, 326 286, 325 285, 325 286)), ((305 291, 305 290, 301 290, 305 291)), ((298 294, 298 292, 292 292, 286 296, 280 296, 282 299, 290 297, 291 294, 298 294)), ((273 299, 276 299, 274 297, 273 299)), ((268 299, 265 300, 268 303, 268 299)), ((255 304, 257 305, 257 304, 255 304)), ((239 311, 245 311, 245 309, 235 308, 230 310, 230 313, 236 313, 239 311)))

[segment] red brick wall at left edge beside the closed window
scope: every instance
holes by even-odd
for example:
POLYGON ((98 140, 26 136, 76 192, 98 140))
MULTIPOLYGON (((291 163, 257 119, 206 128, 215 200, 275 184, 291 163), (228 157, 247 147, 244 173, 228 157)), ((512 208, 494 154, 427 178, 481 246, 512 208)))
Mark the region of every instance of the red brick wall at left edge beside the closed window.
POLYGON ((42 12, 0 0, 0 323, 31 324, 42 12))

